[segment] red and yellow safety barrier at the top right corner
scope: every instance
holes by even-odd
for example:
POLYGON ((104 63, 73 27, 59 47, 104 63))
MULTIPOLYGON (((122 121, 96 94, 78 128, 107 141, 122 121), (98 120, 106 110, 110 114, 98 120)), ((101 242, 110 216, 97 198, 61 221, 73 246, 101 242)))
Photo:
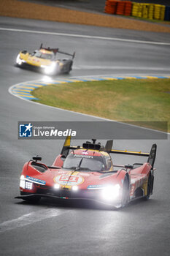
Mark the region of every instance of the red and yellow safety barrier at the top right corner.
POLYGON ((148 18, 150 20, 170 20, 170 6, 161 4, 141 4, 132 1, 107 0, 104 12, 116 15, 148 18))

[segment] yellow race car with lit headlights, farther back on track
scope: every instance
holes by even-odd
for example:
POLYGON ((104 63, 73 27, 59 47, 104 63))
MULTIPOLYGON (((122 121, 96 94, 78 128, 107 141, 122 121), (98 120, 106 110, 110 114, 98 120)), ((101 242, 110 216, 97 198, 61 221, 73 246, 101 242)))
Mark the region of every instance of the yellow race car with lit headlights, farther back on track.
POLYGON ((22 50, 16 59, 16 66, 28 69, 34 69, 46 75, 57 75, 67 73, 72 70, 73 54, 64 53, 58 48, 43 48, 40 45, 39 50, 34 50, 33 53, 28 53, 27 50, 22 50), (69 59, 58 59, 57 53, 71 56, 69 59))

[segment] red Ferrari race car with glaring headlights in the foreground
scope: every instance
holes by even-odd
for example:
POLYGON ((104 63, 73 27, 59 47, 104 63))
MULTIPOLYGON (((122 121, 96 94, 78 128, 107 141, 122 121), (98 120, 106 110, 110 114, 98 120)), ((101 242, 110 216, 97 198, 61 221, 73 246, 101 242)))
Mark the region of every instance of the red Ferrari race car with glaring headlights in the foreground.
POLYGON ((93 200, 120 208, 131 200, 152 195, 156 144, 150 153, 112 149, 112 140, 105 146, 93 142, 70 146, 67 137, 61 154, 52 166, 42 164, 42 158, 26 162, 20 176, 20 196, 31 202, 41 197, 63 200, 93 200), (115 165, 110 154, 147 157, 147 162, 115 165))

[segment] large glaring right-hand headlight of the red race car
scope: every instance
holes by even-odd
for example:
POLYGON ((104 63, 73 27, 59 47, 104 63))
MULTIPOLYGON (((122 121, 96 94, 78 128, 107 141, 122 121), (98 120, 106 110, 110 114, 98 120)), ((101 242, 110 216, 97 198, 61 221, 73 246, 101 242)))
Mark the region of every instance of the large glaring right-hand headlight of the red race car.
POLYGON ((115 200, 119 197, 120 195, 120 185, 116 184, 115 186, 108 186, 108 187, 104 187, 104 189, 102 189, 101 192, 101 197, 104 200, 115 200))

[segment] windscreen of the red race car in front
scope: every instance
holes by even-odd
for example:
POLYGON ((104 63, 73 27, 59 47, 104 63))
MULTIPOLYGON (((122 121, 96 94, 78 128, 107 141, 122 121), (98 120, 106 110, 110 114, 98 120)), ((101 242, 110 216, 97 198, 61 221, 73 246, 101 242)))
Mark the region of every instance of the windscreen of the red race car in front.
POLYGON ((63 168, 78 170, 105 170, 103 157, 70 154, 63 162, 63 168))

